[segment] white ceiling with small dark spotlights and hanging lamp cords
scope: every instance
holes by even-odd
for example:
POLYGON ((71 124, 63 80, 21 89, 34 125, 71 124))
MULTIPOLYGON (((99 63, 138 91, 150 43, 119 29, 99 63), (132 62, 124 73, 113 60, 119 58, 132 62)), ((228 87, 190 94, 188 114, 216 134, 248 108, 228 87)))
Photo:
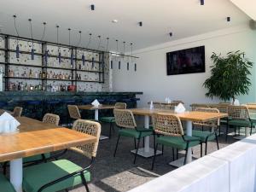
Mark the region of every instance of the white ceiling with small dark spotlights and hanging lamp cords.
MULTIPOLYGON (((115 39, 134 44, 134 49, 161 44, 178 38, 185 38, 203 32, 247 22, 249 17, 230 0, 0 0, 0 25, 3 32, 15 34, 12 15, 17 15, 20 36, 29 37, 28 18, 32 18, 34 38, 41 38, 43 21, 47 22, 46 40, 55 41, 55 25, 60 25, 60 42, 68 43, 67 28, 72 28, 72 44, 78 44, 79 30, 82 43, 93 34, 91 49, 97 48, 97 36, 102 36, 102 45, 110 38, 110 49, 116 49, 115 39), (96 10, 90 10, 90 4, 96 10), (226 17, 231 21, 227 22, 226 17), (119 20, 112 23, 111 20, 119 20), (143 27, 138 22, 143 21, 143 27), (172 32, 172 38, 169 37, 172 32)), ((105 48, 101 48, 105 49, 105 48)))

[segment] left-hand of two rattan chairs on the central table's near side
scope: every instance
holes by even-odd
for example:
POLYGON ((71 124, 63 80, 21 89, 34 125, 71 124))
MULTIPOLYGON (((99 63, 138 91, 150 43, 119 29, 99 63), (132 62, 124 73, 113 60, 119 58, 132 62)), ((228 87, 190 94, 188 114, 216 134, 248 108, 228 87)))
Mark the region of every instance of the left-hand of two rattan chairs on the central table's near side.
POLYGON ((117 143, 116 143, 116 147, 115 147, 113 156, 115 156, 115 154, 116 154, 120 137, 134 138, 135 143, 136 143, 136 139, 137 139, 138 140, 137 146, 135 144, 136 153, 135 153, 134 160, 133 160, 133 163, 135 164, 136 158, 137 158, 137 151, 139 148, 141 138, 152 135, 153 131, 150 129, 145 129, 143 127, 137 127, 133 113, 128 109, 114 108, 113 114, 114 114, 115 123, 119 127, 119 137, 117 139, 117 143))

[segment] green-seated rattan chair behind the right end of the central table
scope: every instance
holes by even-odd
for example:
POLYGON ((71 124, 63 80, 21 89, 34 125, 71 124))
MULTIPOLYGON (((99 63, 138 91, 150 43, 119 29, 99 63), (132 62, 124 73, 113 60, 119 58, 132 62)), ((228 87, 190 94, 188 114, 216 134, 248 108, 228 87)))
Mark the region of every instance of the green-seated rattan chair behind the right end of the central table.
MULTIPOLYGON (((219 113, 217 108, 196 108, 195 111, 208 112, 208 113, 219 113)), ((210 129, 210 131, 198 131, 198 130, 192 131, 193 137, 199 137, 201 139, 201 143, 206 143, 205 154, 207 154, 207 143, 214 139, 216 140, 217 148, 219 149, 218 135, 217 135, 218 130, 219 130, 219 119, 211 120, 211 121, 207 121, 207 122, 196 121, 196 122, 193 122, 193 125, 194 125, 194 128, 203 127, 203 128, 210 129)), ((202 148, 201 148, 201 156, 202 156, 202 148)))

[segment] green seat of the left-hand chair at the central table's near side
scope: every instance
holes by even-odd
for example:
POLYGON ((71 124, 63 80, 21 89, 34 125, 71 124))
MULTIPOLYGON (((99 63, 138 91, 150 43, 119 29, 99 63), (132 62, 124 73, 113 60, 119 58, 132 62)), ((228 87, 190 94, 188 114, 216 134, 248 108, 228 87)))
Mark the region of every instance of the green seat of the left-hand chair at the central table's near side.
POLYGON ((120 129, 119 130, 119 135, 124 136, 124 137, 138 138, 139 135, 140 135, 140 131, 142 131, 141 137, 147 137, 147 136, 150 136, 150 135, 153 134, 153 131, 150 130, 150 129, 137 127, 137 130, 136 129, 120 129))

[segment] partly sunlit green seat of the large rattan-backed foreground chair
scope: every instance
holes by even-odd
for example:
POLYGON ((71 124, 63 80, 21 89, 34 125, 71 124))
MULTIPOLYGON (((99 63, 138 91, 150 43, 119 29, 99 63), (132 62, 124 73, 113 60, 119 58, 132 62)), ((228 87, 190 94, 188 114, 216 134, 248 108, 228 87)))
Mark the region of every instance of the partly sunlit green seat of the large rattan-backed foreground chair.
MULTIPOLYGON (((28 166, 24 168, 23 173, 23 189, 26 192, 38 192, 44 184, 54 181, 57 178, 64 177, 69 173, 73 173, 82 169, 69 160, 55 160, 48 163, 38 164, 36 166, 28 166)), ((90 172, 85 171, 84 177, 87 182, 90 181, 90 172)), ((80 175, 69 177, 60 183, 55 183, 43 192, 53 192, 81 184, 80 175)))

